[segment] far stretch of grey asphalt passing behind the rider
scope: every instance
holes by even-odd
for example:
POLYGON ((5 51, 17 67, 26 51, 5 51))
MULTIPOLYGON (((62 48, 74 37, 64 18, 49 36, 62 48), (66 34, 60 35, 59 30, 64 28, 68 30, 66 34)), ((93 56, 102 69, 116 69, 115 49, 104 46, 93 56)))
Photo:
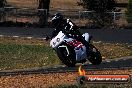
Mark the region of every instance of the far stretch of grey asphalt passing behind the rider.
MULTIPOLYGON (((132 44, 132 29, 79 29, 89 33, 93 41, 132 44)), ((51 36, 53 28, 0 27, 0 35, 45 38, 51 36)))

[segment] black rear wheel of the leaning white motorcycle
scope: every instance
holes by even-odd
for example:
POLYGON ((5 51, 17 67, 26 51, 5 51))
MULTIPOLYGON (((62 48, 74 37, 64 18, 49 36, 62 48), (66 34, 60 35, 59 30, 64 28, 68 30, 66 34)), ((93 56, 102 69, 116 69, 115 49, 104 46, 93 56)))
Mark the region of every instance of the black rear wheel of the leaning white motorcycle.
POLYGON ((102 62, 102 56, 99 50, 93 46, 92 44, 89 45, 90 47, 90 55, 89 55, 89 61, 93 65, 99 65, 102 62))

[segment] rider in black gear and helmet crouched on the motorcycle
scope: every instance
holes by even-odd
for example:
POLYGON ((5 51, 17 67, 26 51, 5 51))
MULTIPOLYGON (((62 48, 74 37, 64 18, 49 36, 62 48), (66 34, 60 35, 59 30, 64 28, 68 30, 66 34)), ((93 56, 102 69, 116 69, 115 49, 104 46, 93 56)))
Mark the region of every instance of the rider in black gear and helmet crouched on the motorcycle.
POLYGON ((77 30, 78 27, 70 19, 64 19, 61 13, 56 13, 52 17, 52 25, 55 29, 52 32, 51 38, 55 37, 60 31, 62 31, 68 37, 75 38, 84 44, 88 53, 88 42, 84 39, 79 30, 77 30))

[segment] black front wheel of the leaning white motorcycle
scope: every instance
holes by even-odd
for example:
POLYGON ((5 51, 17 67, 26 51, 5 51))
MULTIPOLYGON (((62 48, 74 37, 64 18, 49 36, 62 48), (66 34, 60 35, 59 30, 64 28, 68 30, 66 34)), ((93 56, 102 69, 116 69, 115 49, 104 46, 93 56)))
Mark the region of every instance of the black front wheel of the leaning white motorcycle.
POLYGON ((63 43, 63 46, 67 46, 67 49, 69 51, 69 55, 67 56, 67 51, 65 48, 57 48, 57 55, 59 59, 68 67, 74 67, 76 64, 76 55, 73 47, 70 45, 63 43))

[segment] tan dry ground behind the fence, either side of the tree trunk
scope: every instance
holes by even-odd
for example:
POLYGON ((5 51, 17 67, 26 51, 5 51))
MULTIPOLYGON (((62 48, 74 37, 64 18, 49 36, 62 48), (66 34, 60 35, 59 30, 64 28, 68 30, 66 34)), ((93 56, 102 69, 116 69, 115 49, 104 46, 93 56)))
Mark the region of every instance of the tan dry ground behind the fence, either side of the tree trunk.
MULTIPOLYGON (((9 5, 19 8, 37 8, 39 0, 7 0, 9 5)), ((51 0, 50 9, 82 9, 77 5, 79 0, 51 0)))

